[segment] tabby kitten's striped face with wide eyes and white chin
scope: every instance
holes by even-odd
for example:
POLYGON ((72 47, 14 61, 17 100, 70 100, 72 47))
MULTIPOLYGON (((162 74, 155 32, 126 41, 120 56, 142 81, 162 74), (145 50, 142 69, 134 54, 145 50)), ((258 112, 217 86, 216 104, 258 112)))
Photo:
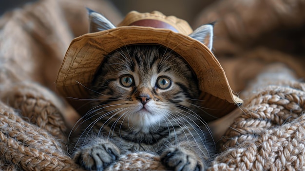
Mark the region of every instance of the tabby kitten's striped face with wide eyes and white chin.
POLYGON ((100 115, 143 129, 193 114, 198 98, 196 78, 170 49, 133 45, 107 56, 93 82, 100 115))

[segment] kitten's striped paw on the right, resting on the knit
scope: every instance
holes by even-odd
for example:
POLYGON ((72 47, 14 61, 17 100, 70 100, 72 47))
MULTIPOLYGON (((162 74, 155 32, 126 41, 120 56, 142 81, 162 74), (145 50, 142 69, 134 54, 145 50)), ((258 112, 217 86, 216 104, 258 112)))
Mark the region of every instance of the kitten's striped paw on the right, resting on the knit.
POLYGON ((204 164, 195 153, 180 148, 170 148, 163 152, 161 161, 173 171, 203 171, 204 164))

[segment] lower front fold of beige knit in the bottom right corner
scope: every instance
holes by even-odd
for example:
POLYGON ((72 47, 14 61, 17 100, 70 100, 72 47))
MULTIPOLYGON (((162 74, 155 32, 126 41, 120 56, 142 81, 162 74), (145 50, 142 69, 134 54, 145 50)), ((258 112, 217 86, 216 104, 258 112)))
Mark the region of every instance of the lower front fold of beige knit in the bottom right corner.
POLYGON ((223 152, 209 171, 304 171, 305 114, 223 152))

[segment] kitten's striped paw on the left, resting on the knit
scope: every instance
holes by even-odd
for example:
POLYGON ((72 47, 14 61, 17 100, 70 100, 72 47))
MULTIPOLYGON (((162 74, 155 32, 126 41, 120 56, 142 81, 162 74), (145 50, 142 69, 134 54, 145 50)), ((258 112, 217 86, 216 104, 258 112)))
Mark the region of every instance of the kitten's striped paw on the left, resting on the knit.
POLYGON ((114 163, 119 155, 120 152, 114 144, 104 142, 85 146, 75 153, 73 159, 86 170, 103 171, 114 163))

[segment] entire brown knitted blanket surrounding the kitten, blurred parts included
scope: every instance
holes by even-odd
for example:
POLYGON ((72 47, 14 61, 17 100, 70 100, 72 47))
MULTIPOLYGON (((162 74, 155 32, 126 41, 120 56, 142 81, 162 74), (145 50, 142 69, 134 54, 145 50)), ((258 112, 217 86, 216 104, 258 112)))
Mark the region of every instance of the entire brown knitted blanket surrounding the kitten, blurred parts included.
MULTIPOLYGON (((72 38, 87 32, 84 6, 121 19, 97 0, 41 0, 1 17, 0 170, 81 170, 66 149, 79 116, 54 81, 72 38)), ((305 170, 304 9, 303 0, 220 0, 198 16, 217 20, 214 52, 245 101, 210 123, 220 152, 209 171, 305 170)), ((164 169, 139 152, 107 170, 164 169)))

